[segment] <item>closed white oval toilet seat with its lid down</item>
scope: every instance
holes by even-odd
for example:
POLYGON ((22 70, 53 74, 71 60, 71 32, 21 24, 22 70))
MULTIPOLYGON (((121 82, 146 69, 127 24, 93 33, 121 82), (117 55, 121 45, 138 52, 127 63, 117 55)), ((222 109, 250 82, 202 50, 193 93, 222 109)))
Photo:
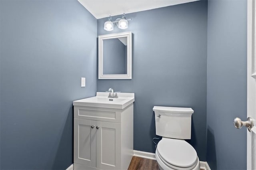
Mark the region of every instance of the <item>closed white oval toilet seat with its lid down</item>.
POLYGON ((176 170, 191 170, 199 162, 196 150, 180 139, 162 138, 156 154, 165 165, 176 170))

